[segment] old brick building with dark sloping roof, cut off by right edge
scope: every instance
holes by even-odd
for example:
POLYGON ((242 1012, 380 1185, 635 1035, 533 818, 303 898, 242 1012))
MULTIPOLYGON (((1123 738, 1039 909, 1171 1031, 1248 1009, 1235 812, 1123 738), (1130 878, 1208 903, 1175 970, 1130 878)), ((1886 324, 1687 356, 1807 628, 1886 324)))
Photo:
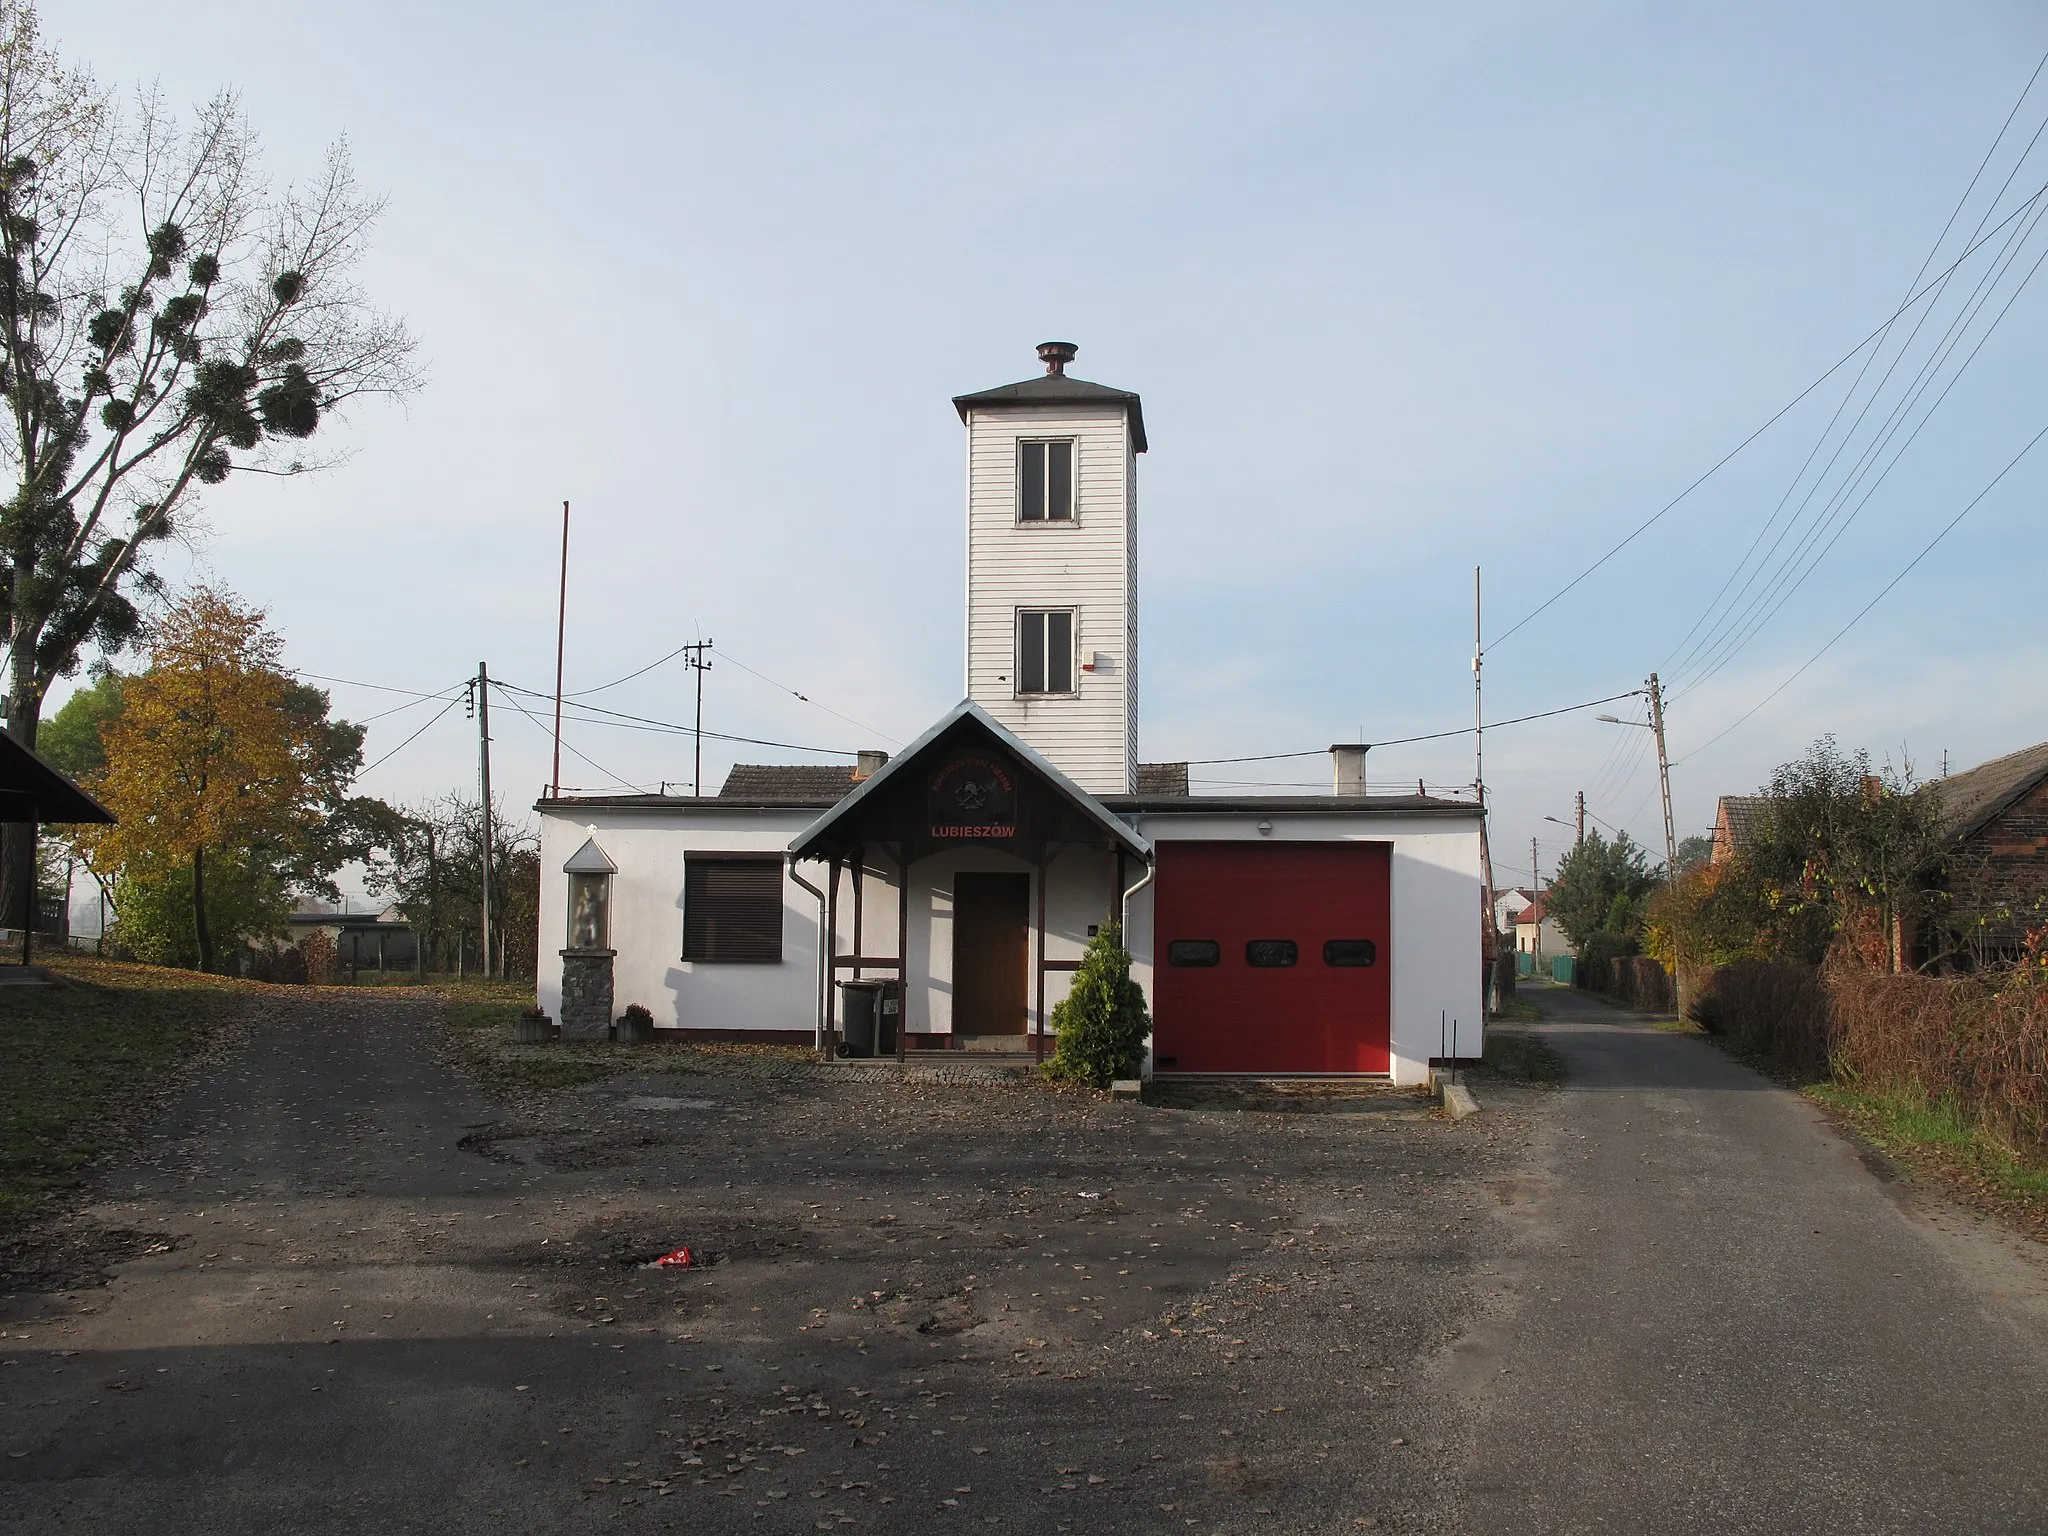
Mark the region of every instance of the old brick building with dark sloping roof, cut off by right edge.
POLYGON ((2048 926, 2048 741, 1927 786, 1942 799, 1939 903, 1921 963, 2009 961, 2048 926))

